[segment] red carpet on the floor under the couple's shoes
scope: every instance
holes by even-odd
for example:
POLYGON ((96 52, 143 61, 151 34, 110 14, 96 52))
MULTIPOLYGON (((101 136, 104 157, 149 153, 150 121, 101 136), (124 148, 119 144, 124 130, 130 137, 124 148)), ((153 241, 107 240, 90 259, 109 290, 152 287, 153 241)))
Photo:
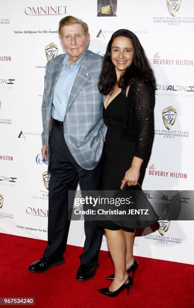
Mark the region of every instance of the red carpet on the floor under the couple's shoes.
POLYGON ((0 234, 0 297, 35 297, 35 306, 61 307, 194 307, 194 269, 192 265, 137 257, 129 296, 123 291, 115 298, 97 289, 109 285, 106 275, 113 273, 108 252, 100 252, 96 276, 85 282, 75 280, 82 248, 68 246, 65 264, 45 273, 27 271, 42 256, 46 242, 0 234))

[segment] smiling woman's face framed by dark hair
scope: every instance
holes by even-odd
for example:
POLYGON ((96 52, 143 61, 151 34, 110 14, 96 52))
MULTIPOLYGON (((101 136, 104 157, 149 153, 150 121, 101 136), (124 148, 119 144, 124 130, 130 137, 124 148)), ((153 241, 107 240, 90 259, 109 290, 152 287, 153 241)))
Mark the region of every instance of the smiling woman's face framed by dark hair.
POLYGON ((111 60, 118 73, 123 73, 133 61, 134 47, 132 40, 125 36, 116 37, 111 46, 111 60))

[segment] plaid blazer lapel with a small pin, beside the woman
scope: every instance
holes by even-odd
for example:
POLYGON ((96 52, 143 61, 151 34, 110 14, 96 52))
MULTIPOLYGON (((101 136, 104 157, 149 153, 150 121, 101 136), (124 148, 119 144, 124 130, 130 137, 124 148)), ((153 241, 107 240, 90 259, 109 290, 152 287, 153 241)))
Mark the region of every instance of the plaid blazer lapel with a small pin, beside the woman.
POLYGON ((66 112, 73 103, 73 101, 75 100, 76 96, 78 95, 84 84, 86 83, 86 81, 88 80, 88 78, 90 77, 90 75, 91 75, 91 58, 89 56, 88 51, 86 50, 78 74, 76 76, 73 88, 71 90, 66 112))

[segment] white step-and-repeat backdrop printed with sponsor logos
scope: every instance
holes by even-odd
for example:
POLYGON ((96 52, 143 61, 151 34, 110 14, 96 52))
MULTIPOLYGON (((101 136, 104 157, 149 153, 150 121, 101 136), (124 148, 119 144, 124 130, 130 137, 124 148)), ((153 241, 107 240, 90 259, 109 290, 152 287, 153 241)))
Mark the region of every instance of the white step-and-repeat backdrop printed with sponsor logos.
MULTIPOLYGON (((143 189, 193 190, 192 0, 1 2, 2 233, 47 240, 49 175, 41 156, 41 104, 46 63, 64 53, 57 29, 67 15, 88 24, 89 49, 101 55, 114 31, 126 28, 138 36, 157 80, 155 137, 143 189)), ((169 192, 165 198, 171 198, 169 192)), ((160 233, 146 228, 137 234, 135 255, 192 264, 193 222, 164 220, 160 227, 160 233)), ((83 243, 83 221, 72 221, 68 244, 83 243)), ((105 237, 101 249, 107 250, 105 237)))

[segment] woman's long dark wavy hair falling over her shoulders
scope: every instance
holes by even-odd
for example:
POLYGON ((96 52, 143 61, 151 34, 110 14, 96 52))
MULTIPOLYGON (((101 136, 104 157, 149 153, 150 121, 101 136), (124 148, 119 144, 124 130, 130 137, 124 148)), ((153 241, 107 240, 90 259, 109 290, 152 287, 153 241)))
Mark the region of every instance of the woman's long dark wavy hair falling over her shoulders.
POLYGON ((111 60, 111 47, 113 40, 118 36, 128 37, 132 40, 134 46, 133 61, 129 67, 125 70, 121 76, 118 87, 126 88, 135 78, 144 78, 149 82, 153 89, 155 89, 155 78, 149 61, 145 55, 143 47, 141 46, 137 36, 126 29, 120 29, 113 33, 108 43, 104 60, 102 64, 102 70, 98 81, 98 89, 100 93, 107 95, 111 89, 115 86, 117 78, 115 72, 115 66, 111 60))

